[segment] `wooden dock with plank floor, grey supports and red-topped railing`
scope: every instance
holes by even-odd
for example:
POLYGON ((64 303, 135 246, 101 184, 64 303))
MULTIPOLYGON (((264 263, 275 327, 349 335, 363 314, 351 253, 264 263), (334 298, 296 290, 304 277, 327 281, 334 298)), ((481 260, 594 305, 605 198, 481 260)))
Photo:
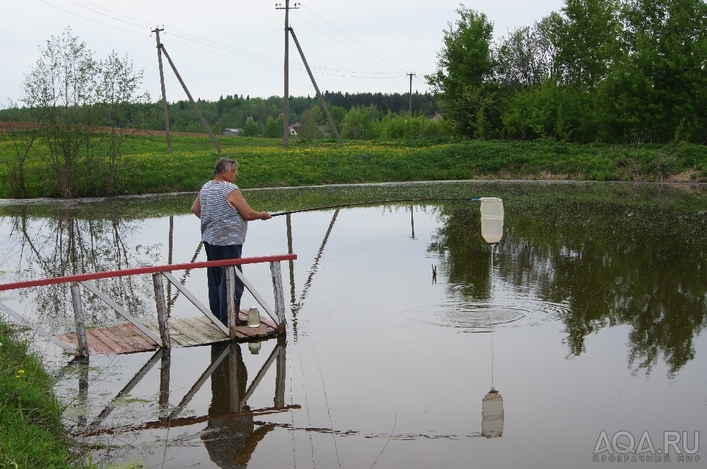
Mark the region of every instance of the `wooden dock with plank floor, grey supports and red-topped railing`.
POLYGON ((51 335, 38 327, 23 315, 13 311, 12 308, 0 301, 0 311, 16 318, 21 323, 35 330, 39 335, 54 342, 76 357, 88 357, 90 352, 98 354, 124 354, 144 352, 158 347, 169 349, 172 344, 180 347, 193 345, 213 344, 235 340, 247 342, 264 340, 277 335, 284 335, 285 329, 285 301, 282 290, 282 277, 280 262, 294 260, 296 254, 271 255, 263 257, 242 257, 239 259, 211 260, 206 262, 189 262, 187 264, 156 265, 152 267, 137 267, 134 269, 112 270, 107 272, 94 272, 90 274, 69 275, 66 277, 53 277, 48 279, 27 280, 0 284, 0 291, 31 288, 34 286, 47 286, 55 284, 69 284, 71 288, 71 303, 74 306, 74 322, 76 332, 65 335, 51 335), (255 290, 255 287, 243 277, 243 273, 236 269, 236 265, 269 262, 272 277, 275 307, 269 306, 267 301, 255 290), (250 291, 255 301, 264 310, 265 315, 260 315, 260 325, 250 328, 247 325, 238 325, 247 320, 247 310, 238 311, 235 297, 228 299, 228 325, 223 325, 216 319, 209 308, 206 308, 199 299, 189 292, 177 280, 172 272, 175 270, 194 270, 206 267, 223 267, 226 270, 226 285, 229 291, 235 291, 236 279, 250 291), (118 303, 103 294, 98 286, 91 281, 111 277, 126 277, 129 275, 151 274, 155 289, 155 302, 157 307, 157 320, 142 322, 133 317, 118 303), (173 284, 184 294, 201 313, 198 318, 170 318, 167 312, 163 280, 173 284), (113 326, 112 328, 89 329, 83 315, 83 300, 81 288, 88 289, 93 295, 102 299, 116 313, 128 321, 127 324, 113 326))

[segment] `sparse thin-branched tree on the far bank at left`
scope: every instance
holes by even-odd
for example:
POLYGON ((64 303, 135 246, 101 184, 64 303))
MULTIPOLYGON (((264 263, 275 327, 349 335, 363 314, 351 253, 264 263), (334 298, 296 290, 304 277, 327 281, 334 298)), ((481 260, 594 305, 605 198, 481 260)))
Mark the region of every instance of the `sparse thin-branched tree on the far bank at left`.
POLYGON ((59 196, 105 195, 106 190, 115 190, 115 162, 122 142, 115 128, 134 123, 135 106, 148 103, 147 95, 135 94, 140 80, 132 62, 119 59, 115 52, 97 62, 71 28, 52 36, 40 50, 40 59, 25 76, 22 101, 34 113, 39 137, 49 149, 41 155, 54 172, 59 196), (98 144, 103 138, 97 128, 102 119, 114 129, 108 139, 108 158, 98 144), (109 181, 100 182, 99 168, 106 166, 109 181))

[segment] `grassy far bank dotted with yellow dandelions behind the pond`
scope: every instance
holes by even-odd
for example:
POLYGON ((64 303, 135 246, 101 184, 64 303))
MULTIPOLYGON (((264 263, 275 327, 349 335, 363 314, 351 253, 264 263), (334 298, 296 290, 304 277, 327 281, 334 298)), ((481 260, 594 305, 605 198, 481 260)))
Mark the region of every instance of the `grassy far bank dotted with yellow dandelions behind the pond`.
MULTIPOLYGON (((197 190, 220 156, 241 163, 240 184, 281 187, 417 180, 574 179, 707 180, 707 146, 575 145, 531 141, 292 141, 219 137, 217 154, 204 136, 130 137, 119 166, 119 193, 146 194, 197 190)), ((0 198, 11 198, 17 170, 16 136, 0 135, 0 198)), ((56 177, 42 161, 37 144, 25 162, 28 197, 55 197, 56 177)), ((97 176, 97 177, 100 177, 97 176)), ((98 184, 100 187, 100 184, 98 184)), ((90 195, 101 195, 90 194, 90 195)))

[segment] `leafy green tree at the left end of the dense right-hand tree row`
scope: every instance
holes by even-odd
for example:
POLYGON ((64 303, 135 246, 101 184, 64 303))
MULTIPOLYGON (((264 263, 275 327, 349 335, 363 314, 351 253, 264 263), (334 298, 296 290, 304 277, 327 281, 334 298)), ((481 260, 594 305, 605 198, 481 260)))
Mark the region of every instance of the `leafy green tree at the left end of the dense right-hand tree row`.
POLYGON ((444 46, 438 53, 437 71, 425 78, 462 133, 479 132, 478 123, 488 121, 487 100, 492 91, 486 85, 496 66, 491 54, 493 23, 484 13, 460 6, 460 18, 444 30, 444 46), (474 105, 474 108, 469 108, 474 105))

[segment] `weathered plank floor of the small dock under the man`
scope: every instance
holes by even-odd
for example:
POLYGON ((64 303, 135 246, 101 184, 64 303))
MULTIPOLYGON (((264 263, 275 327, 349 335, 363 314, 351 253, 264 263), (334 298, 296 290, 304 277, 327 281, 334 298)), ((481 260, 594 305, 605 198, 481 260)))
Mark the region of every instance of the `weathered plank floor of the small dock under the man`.
MULTIPOLYGON (((239 319, 247 320, 247 310, 241 310, 239 319)), ((199 316, 195 318, 169 318, 167 321, 170 329, 170 339, 172 345, 176 347, 193 347, 195 345, 215 344, 216 342, 228 342, 230 337, 218 326, 206 318, 199 316)), ((146 321, 143 323, 146 328, 160 334, 158 321, 146 321)), ((277 325, 267 317, 260 317, 260 325, 251 328, 248 325, 236 326, 237 342, 247 342, 250 340, 267 340, 277 335, 277 325)), ((86 330, 88 349, 91 354, 130 354, 134 352, 148 352, 155 350, 159 344, 144 334, 133 324, 115 325, 110 328, 88 329, 86 330)), ((57 335, 57 339, 71 347, 78 347, 76 332, 70 334, 57 335)))

